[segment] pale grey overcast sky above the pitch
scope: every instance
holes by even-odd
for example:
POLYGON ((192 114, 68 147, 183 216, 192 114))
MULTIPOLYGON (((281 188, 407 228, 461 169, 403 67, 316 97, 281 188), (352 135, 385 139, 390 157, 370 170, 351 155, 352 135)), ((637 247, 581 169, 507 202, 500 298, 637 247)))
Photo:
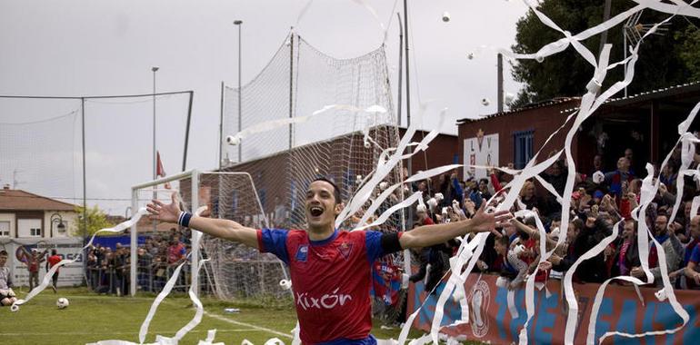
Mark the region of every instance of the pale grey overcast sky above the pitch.
MULTIPOLYGON (((187 168, 214 169, 220 83, 237 84, 238 36, 233 21, 244 21, 245 84, 269 61, 306 3, 0 0, 0 94, 146 94, 153 86, 151 67, 159 66, 158 92, 195 91, 187 168)), ((388 25, 387 58, 394 87, 398 71, 395 12, 402 10, 402 3, 366 1, 388 25)), ((419 101, 431 99, 437 108, 448 107, 449 121, 441 128, 445 133, 456 133, 456 119, 495 113, 495 54, 477 47, 513 44, 515 22, 525 10, 520 1, 409 1, 413 109, 419 101), (451 15, 448 23, 441 19, 445 11, 451 15), (473 60, 466 58, 470 52, 476 53, 473 60), (485 97, 492 100, 491 105, 481 104, 485 97)), ((295 25, 295 32, 325 54, 339 58, 365 54, 384 39, 375 17, 352 0, 315 1, 295 25)), ((518 85, 510 79, 509 71, 505 77, 505 90, 516 94, 518 85)), ((85 108, 90 198, 128 199, 129 186, 151 179, 152 104, 148 99, 130 100, 128 104, 113 102, 89 102, 85 108)), ((79 106, 75 101, 0 100, 0 123, 45 120, 79 106)), ((185 97, 158 101, 156 142, 167 173, 181 169, 185 106, 185 97)), ((73 128, 65 124, 70 121, 49 125, 58 130, 34 138, 34 146, 20 150, 29 153, 44 147, 45 152, 36 153, 36 157, 53 156, 53 161, 35 158, 42 163, 25 163, 24 170, 20 167, 17 173, 17 180, 25 183, 17 188, 50 196, 82 196, 80 157, 65 155, 71 150, 79 153, 80 135, 72 133, 72 139, 59 143, 60 135, 73 128), (63 175, 78 177, 66 180, 35 176, 36 171, 44 174, 44 170, 65 171, 63 175)), ((433 118, 422 121, 426 129, 436 125, 433 118)), ((74 123, 78 123, 79 130, 79 118, 74 123)), ((15 131, 10 131, 7 124, 0 125, 0 133, 15 131)), ((13 182, 12 172, 17 169, 7 158, 11 154, 8 146, 22 139, 22 134, 16 133, 20 138, 15 142, 0 141, 0 158, 5 160, 0 163, 2 183, 13 182)), ((123 214, 128 203, 98 202, 113 214, 123 214)))

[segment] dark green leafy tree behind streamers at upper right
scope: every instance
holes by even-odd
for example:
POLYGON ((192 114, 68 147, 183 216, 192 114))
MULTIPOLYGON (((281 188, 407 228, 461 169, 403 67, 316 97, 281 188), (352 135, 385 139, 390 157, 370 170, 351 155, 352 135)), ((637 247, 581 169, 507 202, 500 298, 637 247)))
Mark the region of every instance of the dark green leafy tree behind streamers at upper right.
MULTIPOLYGON (((603 21, 605 0, 544 0, 539 6, 542 13, 557 25, 572 34, 578 34, 603 21)), ((611 17, 635 5, 631 1, 613 1, 611 17)), ((639 20, 643 24, 655 24, 668 15, 645 10, 639 20)), ((668 32, 651 35, 640 46, 640 58, 635 65, 635 78, 627 88, 630 94, 683 84, 700 74, 700 34, 695 18, 676 16, 666 25, 668 32)), ((607 34, 607 43, 613 44, 611 62, 624 58, 623 25, 617 25, 607 34)), ((529 11, 517 23, 513 50, 516 53, 535 53, 545 44, 555 42, 563 35, 542 24, 537 16, 529 11)), ((600 49, 600 35, 595 35, 583 44, 597 55, 600 49)), ((585 85, 593 75, 594 68, 588 64, 571 46, 564 52, 551 55, 542 63, 535 60, 520 60, 513 63, 512 74, 516 81, 525 87, 517 95, 511 106, 517 108, 525 104, 542 102, 555 97, 579 96, 585 93, 585 85)), ((605 87, 623 78, 620 66, 608 73, 605 87)))

